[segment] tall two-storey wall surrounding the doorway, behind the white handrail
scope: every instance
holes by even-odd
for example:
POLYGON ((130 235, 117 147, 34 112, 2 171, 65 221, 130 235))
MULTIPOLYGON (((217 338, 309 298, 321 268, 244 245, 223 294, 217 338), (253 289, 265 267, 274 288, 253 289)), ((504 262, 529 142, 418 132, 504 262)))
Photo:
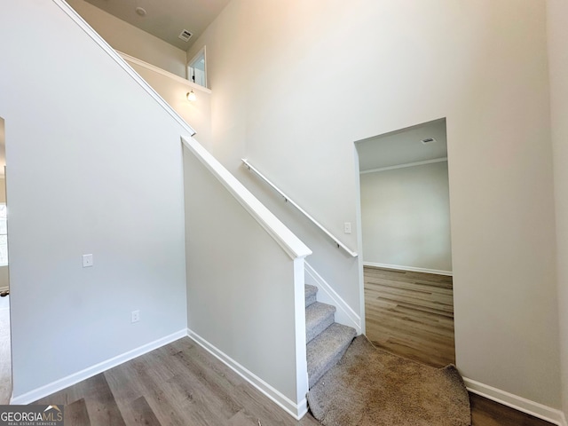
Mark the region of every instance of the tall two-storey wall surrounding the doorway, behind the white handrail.
POLYGON ((213 153, 314 251, 353 309, 359 264, 241 167, 351 248, 354 142, 446 117, 457 365, 560 406, 544 2, 233 0, 207 44, 213 153))

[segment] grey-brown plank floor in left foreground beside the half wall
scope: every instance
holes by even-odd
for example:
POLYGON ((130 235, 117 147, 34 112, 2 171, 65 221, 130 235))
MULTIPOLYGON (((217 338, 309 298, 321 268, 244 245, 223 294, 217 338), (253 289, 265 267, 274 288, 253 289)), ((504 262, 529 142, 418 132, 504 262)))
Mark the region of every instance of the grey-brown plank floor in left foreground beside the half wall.
POLYGON ((295 421, 188 337, 36 403, 66 405, 66 426, 319 425, 295 421))

